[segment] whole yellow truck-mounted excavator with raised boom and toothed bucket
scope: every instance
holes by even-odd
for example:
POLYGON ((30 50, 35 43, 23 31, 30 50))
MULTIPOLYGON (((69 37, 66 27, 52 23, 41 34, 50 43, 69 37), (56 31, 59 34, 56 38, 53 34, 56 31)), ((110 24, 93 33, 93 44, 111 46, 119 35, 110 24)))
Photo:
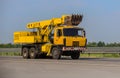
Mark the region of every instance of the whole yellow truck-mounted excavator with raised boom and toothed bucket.
POLYGON ((14 32, 14 43, 22 44, 23 58, 52 56, 60 59, 62 55, 78 59, 86 49, 85 30, 78 25, 82 15, 63 15, 61 18, 32 22, 27 24, 32 31, 14 32))

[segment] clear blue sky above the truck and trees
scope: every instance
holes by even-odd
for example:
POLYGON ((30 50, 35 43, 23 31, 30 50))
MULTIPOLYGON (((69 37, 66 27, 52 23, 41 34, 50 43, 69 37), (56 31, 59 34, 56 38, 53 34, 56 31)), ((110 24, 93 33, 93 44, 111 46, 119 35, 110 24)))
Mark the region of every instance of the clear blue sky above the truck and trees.
POLYGON ((0 0, 0 43, 13 43, 29 22, 64 14, 83 14, 88 42, 120 42, 120 0, 0 0))

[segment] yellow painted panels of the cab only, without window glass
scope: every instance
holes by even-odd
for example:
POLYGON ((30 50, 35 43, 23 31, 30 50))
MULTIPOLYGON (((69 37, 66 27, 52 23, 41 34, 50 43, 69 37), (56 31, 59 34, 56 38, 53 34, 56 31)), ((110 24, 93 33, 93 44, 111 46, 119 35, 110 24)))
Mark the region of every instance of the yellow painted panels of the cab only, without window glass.
MULTIPOLYGON (((57 29, 63 29, 63 28, 79 28, 79 27, 75 27, 75 26, 61 26, 61 27, 57 27, 55 28, 55 36, 54 36, 54 44, 55 45, 64 45, 64 39, 66 39, 66 46, 73 46, 73 41, 77 41, 79 42, 79 46, 85 46, 86 45, 86 37, 65 37, 65 36, 60 36, 57 37, 57 29)), ((69 32, 68 32, 69 33, 69 32)), ((63 32, 62 32, 63 34, 63 32)))

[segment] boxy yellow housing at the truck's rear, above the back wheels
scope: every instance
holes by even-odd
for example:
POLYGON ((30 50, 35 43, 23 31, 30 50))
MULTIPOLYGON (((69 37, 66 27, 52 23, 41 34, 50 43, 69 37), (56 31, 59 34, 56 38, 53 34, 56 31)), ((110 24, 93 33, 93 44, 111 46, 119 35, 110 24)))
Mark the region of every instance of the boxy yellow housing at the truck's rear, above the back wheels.
POLYGON ((36 43, 40 42, 40 36, 36 32, 20 31, 14 32, 14 43, 36 43))

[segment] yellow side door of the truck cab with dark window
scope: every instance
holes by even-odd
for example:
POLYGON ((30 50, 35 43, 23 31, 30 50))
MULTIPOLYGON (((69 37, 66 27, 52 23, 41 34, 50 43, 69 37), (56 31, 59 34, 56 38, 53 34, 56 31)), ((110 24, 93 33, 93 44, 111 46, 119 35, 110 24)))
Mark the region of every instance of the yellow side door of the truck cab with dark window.
POLYGON ((54 44, 63 45, 63 31, 62 29, 55 29, 54 33, 54 44))

